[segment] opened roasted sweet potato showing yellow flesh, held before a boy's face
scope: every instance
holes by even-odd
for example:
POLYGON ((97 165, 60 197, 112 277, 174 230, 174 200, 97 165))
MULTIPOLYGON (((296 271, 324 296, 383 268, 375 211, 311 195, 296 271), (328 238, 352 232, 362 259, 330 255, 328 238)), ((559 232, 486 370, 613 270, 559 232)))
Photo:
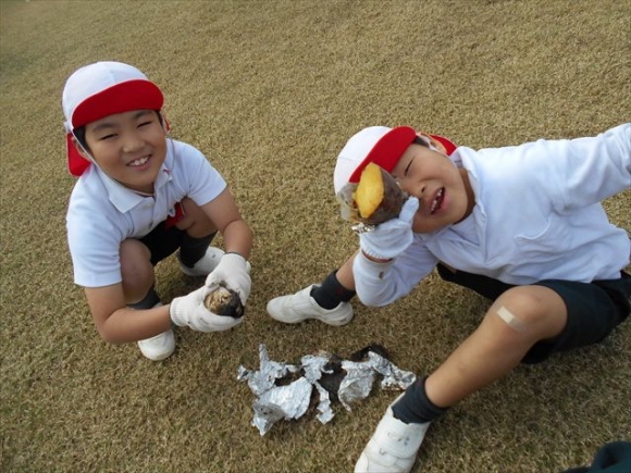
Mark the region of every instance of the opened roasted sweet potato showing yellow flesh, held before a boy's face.
POLYGON ((348 184, 337 196, 344 219, 368 225, 398 216, 407 197, 394 177, 374 163, 366 166, 358 184, 348 184))

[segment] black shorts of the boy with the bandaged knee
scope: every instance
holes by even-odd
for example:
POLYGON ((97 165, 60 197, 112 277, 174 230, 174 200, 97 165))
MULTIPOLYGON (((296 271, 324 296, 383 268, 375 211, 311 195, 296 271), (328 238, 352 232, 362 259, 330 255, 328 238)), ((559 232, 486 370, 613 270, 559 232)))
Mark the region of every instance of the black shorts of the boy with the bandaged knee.
MULTIPOLYGON (((454 273, 442 264, 437 265, 437 270, 443 279, 472 289, 491 300, 515 287, 487 276, 463 271, 454 273)), ((598 343, 631 313, 631 275, 623 271, 619 279, 592 283, 544 279, 533 285, 549 287, 561 297, 568 309, 568 321, 558 337, 535 344, 522 363, 540 363, 553 353, 598 343)))

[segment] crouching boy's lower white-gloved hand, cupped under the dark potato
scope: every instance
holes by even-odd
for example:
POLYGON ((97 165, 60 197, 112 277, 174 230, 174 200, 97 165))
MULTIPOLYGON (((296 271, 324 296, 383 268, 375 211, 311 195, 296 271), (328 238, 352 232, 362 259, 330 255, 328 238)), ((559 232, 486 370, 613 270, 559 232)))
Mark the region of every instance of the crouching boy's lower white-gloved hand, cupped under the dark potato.
POLYGON ((203 304, 203 299, 212 292, 207 286, 194 290, 187 296, 176 297, 171 301, 169 315, 180 327, 188 326, 199 332, 220 332, 238 325, 244 318, 216 315, 203 304))

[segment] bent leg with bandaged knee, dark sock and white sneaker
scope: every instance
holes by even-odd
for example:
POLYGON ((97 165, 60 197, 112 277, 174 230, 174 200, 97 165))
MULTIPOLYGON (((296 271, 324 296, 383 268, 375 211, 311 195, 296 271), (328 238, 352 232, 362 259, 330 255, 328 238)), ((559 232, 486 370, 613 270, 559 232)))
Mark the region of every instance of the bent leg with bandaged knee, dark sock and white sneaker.
POLYGON ((559 335, 566 322, 562 299, 547 287, 520 286, 504 292, 480 327, 425 379, 424 388, 415 383, 391 404, 355 471, 409 472, 429 421, 444 412, 441 408, 507 374, 535 343, 559 335), (397 418, 397 412, 403 415, 397 418))

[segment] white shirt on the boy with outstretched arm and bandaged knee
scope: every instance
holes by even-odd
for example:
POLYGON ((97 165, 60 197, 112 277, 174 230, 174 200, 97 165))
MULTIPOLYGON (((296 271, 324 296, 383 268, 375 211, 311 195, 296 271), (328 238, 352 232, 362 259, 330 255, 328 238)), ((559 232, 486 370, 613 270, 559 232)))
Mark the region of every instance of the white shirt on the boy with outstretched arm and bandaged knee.
POLYGON ((415 234, 389 265, 356 258, 363 303, 385 306, 409 294, 438 261, 514 285, 617 279, 629 264, 629 235, 609 223, 601 201, 631 188, 631 124, 592 138, 459 147, 449 158, 469 173, 471 215, 415 234))

